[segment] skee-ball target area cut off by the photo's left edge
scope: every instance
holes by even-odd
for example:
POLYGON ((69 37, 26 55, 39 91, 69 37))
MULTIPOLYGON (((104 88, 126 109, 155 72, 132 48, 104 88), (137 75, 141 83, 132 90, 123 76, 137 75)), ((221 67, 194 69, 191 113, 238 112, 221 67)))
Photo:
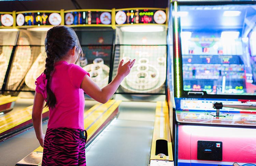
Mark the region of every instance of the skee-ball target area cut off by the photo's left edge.
POLYGON ((16 45, 18 30, 0 29, 0 90, 8 68, 13 46, 16 45))

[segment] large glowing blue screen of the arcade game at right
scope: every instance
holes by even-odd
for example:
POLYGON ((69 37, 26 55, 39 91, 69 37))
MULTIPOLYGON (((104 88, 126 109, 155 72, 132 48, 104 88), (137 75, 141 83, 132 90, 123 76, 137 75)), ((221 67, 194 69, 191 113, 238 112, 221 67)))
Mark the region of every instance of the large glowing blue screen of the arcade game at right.
POLYGON ((179 6, 184 91, 256 94, 255 7, 179 6))

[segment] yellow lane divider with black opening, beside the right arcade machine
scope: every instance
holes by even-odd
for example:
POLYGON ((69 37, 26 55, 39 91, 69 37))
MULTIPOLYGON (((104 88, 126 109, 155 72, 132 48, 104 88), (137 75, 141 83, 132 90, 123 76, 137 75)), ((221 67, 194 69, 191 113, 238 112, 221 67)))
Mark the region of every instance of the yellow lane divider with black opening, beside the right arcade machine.
POLYGON ((157 102, 150 160, 173 161, 170 122, 169 122, 169 109, 168 109, 167 102, 157 102), (161 123, 161 120, 163 120, 162 123, 161 123), (161 126, 161 124, 163 125, 161 126), (163 131, 162 137, 160 137, 160 131, 163 131), (160 158, 160 156, 155 155, 156 140, 158 139, 164 139, 168 141, 167 143, 168 156, 161 156, 162 158, 160 158))

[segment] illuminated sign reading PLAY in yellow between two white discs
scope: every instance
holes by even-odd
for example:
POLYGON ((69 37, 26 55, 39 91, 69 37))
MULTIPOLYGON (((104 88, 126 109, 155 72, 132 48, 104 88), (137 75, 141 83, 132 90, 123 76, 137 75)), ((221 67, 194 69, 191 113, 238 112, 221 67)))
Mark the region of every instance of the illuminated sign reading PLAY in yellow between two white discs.
POLYGON ((60 25, 61 16, 59 13, 20 13, 16 17, 17 26, 41 26, 41 25, 60 25))

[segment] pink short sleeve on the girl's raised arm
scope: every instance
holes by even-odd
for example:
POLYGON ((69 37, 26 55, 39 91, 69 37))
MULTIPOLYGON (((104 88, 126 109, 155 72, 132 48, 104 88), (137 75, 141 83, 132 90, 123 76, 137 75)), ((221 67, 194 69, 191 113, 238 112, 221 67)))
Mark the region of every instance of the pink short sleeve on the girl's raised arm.
POLYGON ((90 77, 90 74, 88 72, 86 72, 81 66, 76 64, 71 64, 68 74, 71 84, 76 88, 80 88, 83 78, 86 74, 90 77))

